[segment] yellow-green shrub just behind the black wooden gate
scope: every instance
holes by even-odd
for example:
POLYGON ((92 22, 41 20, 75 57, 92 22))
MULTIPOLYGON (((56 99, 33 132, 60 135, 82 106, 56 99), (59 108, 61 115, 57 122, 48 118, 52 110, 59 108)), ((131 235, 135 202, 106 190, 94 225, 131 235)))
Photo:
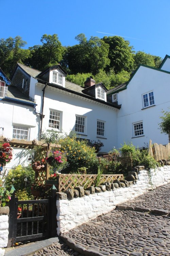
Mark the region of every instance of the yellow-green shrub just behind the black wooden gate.
POLYGON ((5 177, 5 186, 8 190, 14 186, 16 192, 26 190, 31 197, 31 184, 35 182, 35 172, 32 167, 22 167, 18 165, 15 169, 11 169, 5 177), (24 179, 27 178, 27 184, 24 179), (14 179, 14 181, 12 181, 14 179))

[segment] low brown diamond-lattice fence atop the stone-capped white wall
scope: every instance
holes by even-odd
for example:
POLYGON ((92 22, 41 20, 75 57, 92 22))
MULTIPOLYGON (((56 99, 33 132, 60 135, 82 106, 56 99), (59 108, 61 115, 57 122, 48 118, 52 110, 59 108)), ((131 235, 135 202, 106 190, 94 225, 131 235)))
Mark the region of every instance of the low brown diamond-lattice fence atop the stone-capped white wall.
MULTIPOLYGON (((83 186, 84 188, 89 186, 95 186, 97 174, 59 174, 58 176, 58 191, 68 188, 74 188, 76 186, 83 186)), ((114 180, 122 180, 123 174, 102 174, 100 183, 113 182, 114 180)))

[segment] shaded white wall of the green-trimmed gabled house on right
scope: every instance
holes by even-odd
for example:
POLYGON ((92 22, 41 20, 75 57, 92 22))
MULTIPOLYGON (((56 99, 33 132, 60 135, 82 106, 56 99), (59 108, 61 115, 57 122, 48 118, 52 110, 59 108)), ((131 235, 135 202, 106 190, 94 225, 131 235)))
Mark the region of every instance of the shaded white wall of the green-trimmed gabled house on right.
POLYGON ((169 142, 168 135, 158 129, 162 110, 170 106, 169 87, 170 74, 140 66, 127 88, 117 94, 118 104, 122 104, 117 119, 118 147, 124 141, 136 147, 147 147, 150 139, 163 145, 169 142), (143 109, 142 94, 149 91, 154 93, 155 106, 143 109), (139 121, 143 122, 144 136, 133 138, 132 124, 139 121))

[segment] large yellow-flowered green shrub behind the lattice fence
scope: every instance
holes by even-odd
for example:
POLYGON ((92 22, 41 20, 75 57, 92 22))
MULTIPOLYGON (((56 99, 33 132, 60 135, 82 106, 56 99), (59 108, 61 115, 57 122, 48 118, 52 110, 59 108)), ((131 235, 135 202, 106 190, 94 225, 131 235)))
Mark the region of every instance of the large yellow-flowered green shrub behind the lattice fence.
MULTIPOLYGON (((77 138, 75 132, 71 132, 69 136, 61 138, 58 141, 61 144, 61 152, 65 152, 67 156, 68 167, 64 170, 77 171, 80 167, 88 168, 88 172, 96 171, 98 159, 96 157, 95 148, 87 145, 87 140, 77 138)), ((62 171, 62 172, 64 172, 62 171)))

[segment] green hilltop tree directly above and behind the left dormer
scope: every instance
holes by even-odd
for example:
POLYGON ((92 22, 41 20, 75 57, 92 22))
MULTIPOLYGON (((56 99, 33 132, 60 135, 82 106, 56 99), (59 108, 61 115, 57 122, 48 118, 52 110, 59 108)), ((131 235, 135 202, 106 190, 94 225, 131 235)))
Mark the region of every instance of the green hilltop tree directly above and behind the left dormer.
POLYGON ((29 47, 31 56, 27 61, 27 65, 38 70, 57 65, 62 60, 64 53, 64 47, 58 40, 57 34, 44 34, 40 41, 42 45, 29 47))

